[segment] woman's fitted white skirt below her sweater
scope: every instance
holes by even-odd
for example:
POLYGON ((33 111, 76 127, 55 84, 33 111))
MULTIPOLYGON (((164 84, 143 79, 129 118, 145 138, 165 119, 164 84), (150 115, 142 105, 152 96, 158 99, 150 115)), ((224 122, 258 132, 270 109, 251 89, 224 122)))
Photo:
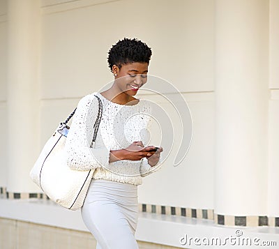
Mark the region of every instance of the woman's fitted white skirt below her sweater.
POLYGON ((84 224, 97 240, 96 249, 138 249, 135 240, 137 186, 92 179, 81 209, 84 224))

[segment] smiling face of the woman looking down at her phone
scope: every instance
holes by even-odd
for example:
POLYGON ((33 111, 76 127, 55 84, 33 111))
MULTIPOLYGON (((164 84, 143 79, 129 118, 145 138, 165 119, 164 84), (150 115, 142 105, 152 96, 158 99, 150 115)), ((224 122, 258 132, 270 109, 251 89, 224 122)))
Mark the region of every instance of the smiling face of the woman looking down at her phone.
POLYGON ((115 82, 121 92, 134 96, 147 81, 148 63, 128 63, 122 65, 120 70, 114 65, 112 72, 117 74, 115 82))

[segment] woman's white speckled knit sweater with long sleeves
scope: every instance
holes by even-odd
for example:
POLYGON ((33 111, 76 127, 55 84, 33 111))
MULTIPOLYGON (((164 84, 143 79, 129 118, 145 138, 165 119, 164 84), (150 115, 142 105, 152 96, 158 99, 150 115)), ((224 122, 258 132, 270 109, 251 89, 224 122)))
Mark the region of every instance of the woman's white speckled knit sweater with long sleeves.
POLYGON ((109 160, 110 150, 126 148, 135 141, 141 140, 144 146, 153 145, 147 144, 148 129, 151 126, 149 114, 151 105, 146 100, 140 100, 136 105, 119 105, 98 92, 84 96, 77 105, 66 139, 68 166, 76 170, 95 169, 93 179, 142 184, 142 177, 161 167, 161 156, 153 167, 146 158, 118 160, 114 163, 109 163, 109 160), (93 125, 98 115, 98 99, 94 94, 103 103, 103 115, 96 142, 90 148, 93 125))

